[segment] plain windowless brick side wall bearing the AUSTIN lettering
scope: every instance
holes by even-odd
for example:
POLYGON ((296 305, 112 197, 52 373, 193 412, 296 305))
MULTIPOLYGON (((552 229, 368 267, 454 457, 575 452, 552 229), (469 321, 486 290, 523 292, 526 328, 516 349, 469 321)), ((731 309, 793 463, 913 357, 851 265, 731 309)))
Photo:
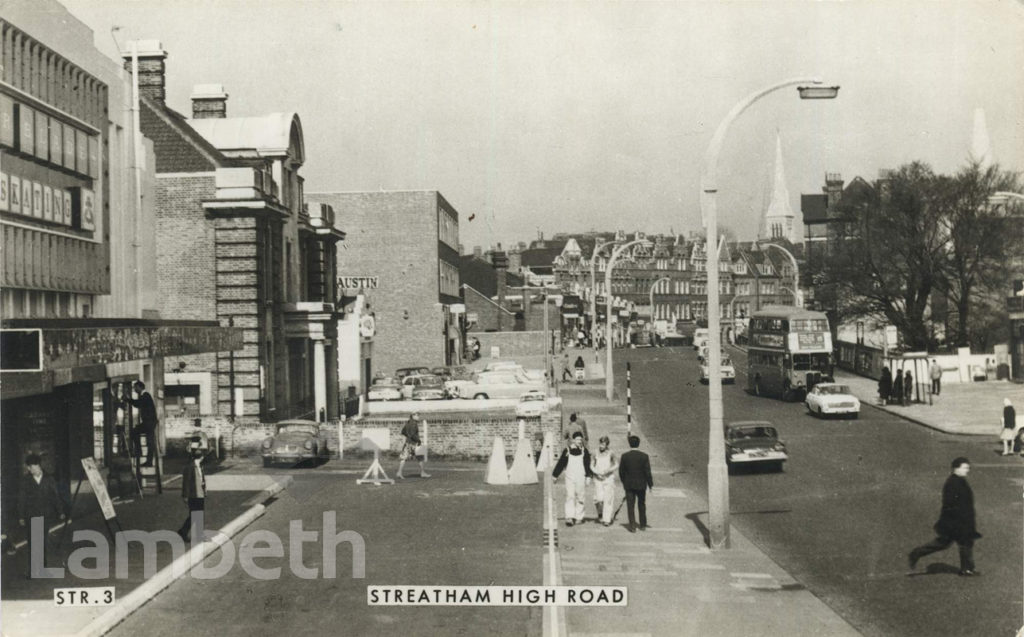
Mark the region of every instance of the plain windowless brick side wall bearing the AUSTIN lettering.
MULTIPOLYGON (((436 192, 306 194, 330 204, 347 233, 339 277, 377 277, 361 290, 377 320, 372 372, 444 365, 436 192)), ((454 259, 456 269, 458 257, 454 259)))

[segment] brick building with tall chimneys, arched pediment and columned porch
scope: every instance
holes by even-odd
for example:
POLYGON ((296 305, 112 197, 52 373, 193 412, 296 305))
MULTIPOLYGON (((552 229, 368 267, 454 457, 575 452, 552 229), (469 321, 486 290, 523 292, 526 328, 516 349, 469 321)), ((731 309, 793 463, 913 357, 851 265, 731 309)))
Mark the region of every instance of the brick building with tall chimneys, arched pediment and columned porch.
POLYGON ((167 416, 274 421, 338 413, 333 211, 304 206, 294 113, 227 117, 219 85, 197 86, 193 118, 165 102, 167 53, 137 55, 141 127, 157 173, 159 307, 241 328, 240 351, 166 362, 167 416))

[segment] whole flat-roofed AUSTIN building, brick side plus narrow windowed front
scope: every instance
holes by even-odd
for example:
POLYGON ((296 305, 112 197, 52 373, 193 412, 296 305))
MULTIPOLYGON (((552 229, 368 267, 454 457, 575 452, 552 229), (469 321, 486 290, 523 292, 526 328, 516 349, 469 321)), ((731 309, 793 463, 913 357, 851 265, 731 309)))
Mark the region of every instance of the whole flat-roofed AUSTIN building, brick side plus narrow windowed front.
POLYGON ((441 194, 308 193, 306 199, 334 208, 347 232, 338 285, 346 297, 361 294, 375 317, 370 374, 461 363, 459 213, 441 194))

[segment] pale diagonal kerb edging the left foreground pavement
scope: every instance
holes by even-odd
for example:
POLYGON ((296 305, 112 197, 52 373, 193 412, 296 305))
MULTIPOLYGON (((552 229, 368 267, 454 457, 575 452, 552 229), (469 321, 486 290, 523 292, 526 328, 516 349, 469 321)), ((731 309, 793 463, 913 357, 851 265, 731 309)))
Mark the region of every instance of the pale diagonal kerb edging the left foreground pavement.
POLYGON ((176 580, 191 570, 196 564, 201 564, 207 556, 226 544, 231 538, 243 528, 252 524, 258 517, 266 512, 266 505, 262 504, 270 498, 281 493, 287 486, 289 480, 275 482, 263 490, 257 498, 260 504, 255 504, 246 510, 242 515, 225 524, 212 538, 195 546, 191 550, 180 555, 173 562, 164 566, 157 575, 153 576, 138 588, 122 597, 110 610, 99 615, 76 635, 78 637, 99 637, 105 635, 115 626, 125 621, 128 615, 138 610, 143 604, 156 597, 161 591, 173 584, 176 580))

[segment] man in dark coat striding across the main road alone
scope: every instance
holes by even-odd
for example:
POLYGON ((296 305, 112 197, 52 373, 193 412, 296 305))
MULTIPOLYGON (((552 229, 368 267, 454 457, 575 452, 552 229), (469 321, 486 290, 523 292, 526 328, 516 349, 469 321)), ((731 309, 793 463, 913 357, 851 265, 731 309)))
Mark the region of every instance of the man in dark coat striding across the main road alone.
POLYGON ((967 458, 953 460, 952 473, 942 486, 942 512, 934 527, 936 538, 910 551, 908 559, 911 570, 922 557, 946 549, 955 542, 959 548, 959 574, 965 577, 981 575, 974 569, 974 541, 981 538, 981 534, 975 528, 974 492, 967 483, 970 470, 971 464, 967 458))

